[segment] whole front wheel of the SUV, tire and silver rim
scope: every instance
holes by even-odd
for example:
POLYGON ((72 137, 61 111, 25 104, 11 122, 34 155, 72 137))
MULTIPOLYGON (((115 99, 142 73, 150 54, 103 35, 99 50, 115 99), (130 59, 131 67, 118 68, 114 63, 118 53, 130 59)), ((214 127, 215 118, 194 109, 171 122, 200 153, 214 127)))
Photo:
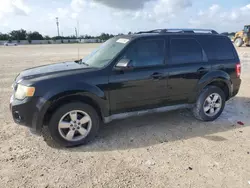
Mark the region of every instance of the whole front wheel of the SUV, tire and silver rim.
POLYGON ((91 141, 98 133, 99 124, 100 117, 93 107, 84 103, 69 103, 57 109, 52 115, 49 131, 52 139, 59 145, 73 147, 91 141), (83 117, 89 122, 81 124, 85 121, 83 117), (77 122, 73 122, 72 119, 77 119, 77 122))

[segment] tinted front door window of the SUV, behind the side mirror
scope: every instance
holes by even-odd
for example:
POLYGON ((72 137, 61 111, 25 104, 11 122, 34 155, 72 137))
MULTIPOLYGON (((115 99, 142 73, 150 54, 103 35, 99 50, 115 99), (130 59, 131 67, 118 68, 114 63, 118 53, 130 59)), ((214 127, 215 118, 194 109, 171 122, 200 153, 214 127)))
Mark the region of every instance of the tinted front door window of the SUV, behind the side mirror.
POLYGON ((134 67, 164 64, 164 40, 140 40, 129 46, 123 58, 132 60, 134 67))

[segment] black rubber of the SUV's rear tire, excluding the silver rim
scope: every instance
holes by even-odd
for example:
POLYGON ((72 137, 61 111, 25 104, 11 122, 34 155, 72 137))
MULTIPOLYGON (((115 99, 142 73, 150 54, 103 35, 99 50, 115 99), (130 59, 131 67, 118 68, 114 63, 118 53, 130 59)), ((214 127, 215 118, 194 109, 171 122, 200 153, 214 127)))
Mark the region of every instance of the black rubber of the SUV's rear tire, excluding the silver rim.
POLYGON ((207 86, 206 88, 204 88, 201 91, 201 93, 196 101, 196 104, 193 107, 193 114, 194 114, 195 118, 197 118, 198 120, 213 121, 213 120, 217 119, 221 115, 221 113, 223 112, 224 107, 225 107, 225 101, 226 101, 225 93, 219 87, 207 86), (203 105, 204 105, 207 97, 213 93, 220 95, 221 100, 222 100, 221 101, 221 109, 214 116, 208 116, 203 109, 203 105))

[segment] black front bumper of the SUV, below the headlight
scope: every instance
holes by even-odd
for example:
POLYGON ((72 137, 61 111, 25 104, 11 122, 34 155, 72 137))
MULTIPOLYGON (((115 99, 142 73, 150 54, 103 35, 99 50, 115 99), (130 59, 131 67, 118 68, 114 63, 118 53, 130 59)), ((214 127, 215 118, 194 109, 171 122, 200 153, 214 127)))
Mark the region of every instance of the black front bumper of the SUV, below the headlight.
POLYGON ((29 127, 33 132, 40 133, 43 122, 40 119, 39 101, 39 97, 17 100, 12 96, 10 110, 15 123, 29 127))

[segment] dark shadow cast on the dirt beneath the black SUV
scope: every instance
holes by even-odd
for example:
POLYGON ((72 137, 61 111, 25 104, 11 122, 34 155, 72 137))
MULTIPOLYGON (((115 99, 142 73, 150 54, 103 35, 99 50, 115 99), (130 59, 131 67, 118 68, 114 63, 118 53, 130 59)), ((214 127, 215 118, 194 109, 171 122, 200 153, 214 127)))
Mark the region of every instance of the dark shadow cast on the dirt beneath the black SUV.
POLYGON ((221 142, 220 132, 242 128, 250 123, 250 99, 235 97, 227 102, 222 115, 213 122, 196 120, 188 109, 114 121, 104 125, 96 139, 87 145, 62 148, 45 137, 50 147, 71 152, 95 152, 144 148, 194 137, 221 142), (216 135, 215 135, 216 134, 216 135))

